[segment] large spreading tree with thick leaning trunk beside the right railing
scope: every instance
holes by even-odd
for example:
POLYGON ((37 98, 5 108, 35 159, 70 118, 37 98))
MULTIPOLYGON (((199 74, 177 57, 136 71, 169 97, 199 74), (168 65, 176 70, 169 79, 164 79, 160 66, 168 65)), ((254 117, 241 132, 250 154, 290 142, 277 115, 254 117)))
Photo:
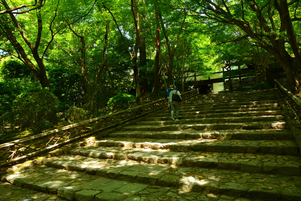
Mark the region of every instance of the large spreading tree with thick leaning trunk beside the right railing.
POLYGON ((241 0, 237 2, 178 0, 178 2, 182 4, 182 9, 189 11, 200 23, 220 22, 228 24, 229 27, 238 27, 244 35, 238 35, 237 38, 228 42, 237 42, 249 37, 253 43, 267 50, 280 62, 292 93, 300 92, 301 74, 297 65, 301 66, 301 51, 295 32, 297 26, 293 26, 296 21, 301 20, 296 16, 299 14, 299 0, 290 2, 287 0, 241 0), (287 43, 295 57, 290 56, 287 43))

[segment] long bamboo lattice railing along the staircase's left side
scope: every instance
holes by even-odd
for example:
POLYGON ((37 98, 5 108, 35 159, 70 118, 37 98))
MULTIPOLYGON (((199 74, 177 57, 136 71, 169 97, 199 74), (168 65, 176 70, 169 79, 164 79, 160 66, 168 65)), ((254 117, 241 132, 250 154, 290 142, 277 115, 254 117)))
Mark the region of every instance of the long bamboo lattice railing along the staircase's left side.
MULTIPOLYGON (((181 94, 182 100, 198 95, 199 89, 181 94)), ((67 145, 75 140, 116 127, 120 124, 142 117, 148 113, 166 107, 165 99, 159 99, 127 110, 89 119, 55 130, 40 133, 20 140, 0 144, 0 168, 18 161, 33 158, 67 145)))

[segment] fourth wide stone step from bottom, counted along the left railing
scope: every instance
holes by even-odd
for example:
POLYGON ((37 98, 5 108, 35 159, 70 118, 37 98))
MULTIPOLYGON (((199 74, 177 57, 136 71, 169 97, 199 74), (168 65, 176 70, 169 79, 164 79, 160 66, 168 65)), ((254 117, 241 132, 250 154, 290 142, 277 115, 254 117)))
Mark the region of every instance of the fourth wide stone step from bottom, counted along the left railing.
MULTIPOLYGON (((227 133, 225 133, 226 136, 227 133)), ((136 139, 136 138, 105 138, 104 140, 94 140, 89 142, 93 146, 108 147, 125 147, 136 149, 151 150, 171 150, 175 152, 234 152, 234 153, 261 153, 275 155, 298 155, 298 145, 291 140, 170 140, 170 139, 136 139)), ((102 148, 100 148, 102 149, 102 148)), ((74 149, 80 150, 80 149, 74 149)), ((72 154, 78 155, 77 152, 70 151, 72 154)))

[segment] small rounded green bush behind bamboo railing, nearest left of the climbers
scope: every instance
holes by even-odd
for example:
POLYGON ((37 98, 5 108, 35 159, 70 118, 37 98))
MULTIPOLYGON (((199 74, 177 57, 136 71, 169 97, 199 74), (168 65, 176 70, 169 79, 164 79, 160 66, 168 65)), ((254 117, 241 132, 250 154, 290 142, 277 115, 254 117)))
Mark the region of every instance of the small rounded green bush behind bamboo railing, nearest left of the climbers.
POLYGON ((113 96, 108 101, 108 107, 115 110, 126 110, 129 109, 135 103, 136 97, 126 93, 119 93, 113 96))

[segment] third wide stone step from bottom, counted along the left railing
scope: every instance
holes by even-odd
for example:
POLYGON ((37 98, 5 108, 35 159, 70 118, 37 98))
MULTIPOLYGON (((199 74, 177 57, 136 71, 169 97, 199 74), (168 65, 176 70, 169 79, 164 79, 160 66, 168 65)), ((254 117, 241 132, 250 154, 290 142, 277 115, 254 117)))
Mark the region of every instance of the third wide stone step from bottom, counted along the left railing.
MULTIPOLYGON (((238 154, 226 152, 178 152, 166 150, 152 149, 131 149, 121 147, 106 147, 100 146, 85 146, 70 150, 73 155, 81 155, 95 159, 112 159, 112 160, 132 160, 147 164, 169 165, 169 166, 184 166, 184 167, 206 167, 239 170, 250 173, 268 173, 268 174, 284 174, 287 176, 301 176, 300 157, 271 154, 238 154)), ((187 151, 187 150, 183 150, 187 151)), ((72 156, 64 155, 60 158, 72 158, 72 156)), ((58 163, 57 160, 51 161, 55 168, 65 168, 66 170, 74 169, 74 163, 65 160, 64 164, 58 163)), ((48 162, 43 162, 44 165, 52 166, 48 162)), ((81 165, 81 168, 87 168, 89 165, 81 165)), ((166 166, 156 166, 160 170, 166 166)), ((76 167, 78 168, 78 167, 76 167)), ((98 168, 100 168, 98 166, 98 168)), ((165 169, 164 169, 165 170, 165 169)), ((79 170, 76 170, 79 171, 79 170)), ((85 171, 82 169, 81 171, 85 171)), ((162 170, 163 171, 163 170, 162 170)), ((152 171, 152 173, 157 173, 152 171)), ((158 174, 158 173, 157 173, 158 174)))

